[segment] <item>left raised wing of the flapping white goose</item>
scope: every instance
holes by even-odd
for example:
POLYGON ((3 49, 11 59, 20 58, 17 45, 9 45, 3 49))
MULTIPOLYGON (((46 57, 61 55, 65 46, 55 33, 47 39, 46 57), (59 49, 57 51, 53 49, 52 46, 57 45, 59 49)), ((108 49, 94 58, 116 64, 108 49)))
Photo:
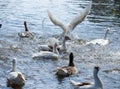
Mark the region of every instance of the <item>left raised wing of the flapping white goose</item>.
POLYGON ((49 10, 47 10, 47 13, 48 13, 48 16, 49 16, 50 20, 53 22, 53 24, 61 27, 61 28, 63 29, 63 31, 66 32, 66 28, 65 28, 64 24, 61 23, 61 22, 59 22, 59 21, 57 21, 57 20, 52 16, 52 14, 51 14, 51 12, 50 12, 49 10))

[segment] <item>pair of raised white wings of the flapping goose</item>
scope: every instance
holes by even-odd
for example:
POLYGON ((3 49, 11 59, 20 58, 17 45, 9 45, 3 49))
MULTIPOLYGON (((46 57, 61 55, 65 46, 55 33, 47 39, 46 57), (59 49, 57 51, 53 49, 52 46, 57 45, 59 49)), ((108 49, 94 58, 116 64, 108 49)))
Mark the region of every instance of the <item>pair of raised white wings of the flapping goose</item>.
POLYGON ((62 38, 65 34, 69 34, 70 32, 72 32, 75 29, 75 27, 85 19, 85 17, 88 15, 88 13, 89 13, 89 11, 91 9, 91 5, 92 5, 92 1, 80 13, 80 15, 76 16, 70 23, 68 23, 68 25, 64 25, 62 22, 55 19, 53 17, 53 15, 51 14, 51 12, 49 10, 47 10, 48 16, 49 16, 50 20, 53 22, 53 24, 61 27, 62 30, 63 30, 63 33, 60 36, 60 38, 62 38))

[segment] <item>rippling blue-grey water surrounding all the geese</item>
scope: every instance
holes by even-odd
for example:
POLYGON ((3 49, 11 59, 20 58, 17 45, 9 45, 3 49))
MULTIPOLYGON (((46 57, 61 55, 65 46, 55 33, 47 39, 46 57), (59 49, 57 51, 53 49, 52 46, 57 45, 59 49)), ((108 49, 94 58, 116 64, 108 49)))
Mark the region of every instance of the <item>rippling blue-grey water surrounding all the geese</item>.
POLYGON ((104 47, 84 46, 79 39, 69 42, 68 51, 75 55, 78 74, 60 80, 54 70, 67 65, 68 60, 32 59, 39 44, 62 32, 50 22, 46 10, 49 9, 55 18, 67 24, 88 3, 88 0, 0 0, 0 89, 8 89, 6 76, 14 57, 18 59, 17 69, 27 78, 24 89, 73 89, 69 79, 93 81, 95 65, 101 67, 99 76, 104 89, 120 89, 120 19, 112 14, 112 9, 117 8, 119 2, 114 0, 93 0, 90 14, 73 31, 79 39, 89 41, 102 38, 108 27, 114 30, 108 34, 110 44, 104 47), (34 39, 19 39, 18 32, 24 31, 23 21, 28 22, 34 39))

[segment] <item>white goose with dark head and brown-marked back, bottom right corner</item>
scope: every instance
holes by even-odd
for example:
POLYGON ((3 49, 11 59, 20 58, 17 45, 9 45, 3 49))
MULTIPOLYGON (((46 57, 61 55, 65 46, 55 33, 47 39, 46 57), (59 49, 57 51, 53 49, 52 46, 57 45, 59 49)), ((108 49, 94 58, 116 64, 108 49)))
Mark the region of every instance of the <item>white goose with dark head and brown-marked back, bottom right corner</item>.
POLYGON ((95 66, 94 67, 94 71, 93 71, 93 76, 94 76, 94 83, 89 83, 89 82, 75 82, 73 80, 71 80, 71 83, 74 86, 78 86, 79 89, 103 89, 102 83, 98 77, 98 71, 99 71, 99 67, 95 66))

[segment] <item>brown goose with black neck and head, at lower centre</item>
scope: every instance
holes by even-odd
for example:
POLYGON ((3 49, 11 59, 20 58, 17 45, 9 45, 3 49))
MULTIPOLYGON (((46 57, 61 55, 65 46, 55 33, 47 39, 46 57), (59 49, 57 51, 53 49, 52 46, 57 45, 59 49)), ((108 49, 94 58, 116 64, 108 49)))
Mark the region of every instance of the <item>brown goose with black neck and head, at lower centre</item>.
POLYGON ((73 56, 73 53, 71 52, 70 55, 69 55, 69 64, 68 64, 68 66, 57 68, 56 74, 58 76, 65 77, 65 76, 69 76, 69 75, 77 73, 77 68, 74 65, 73 59, 74 59, 74 56, 73 56))

